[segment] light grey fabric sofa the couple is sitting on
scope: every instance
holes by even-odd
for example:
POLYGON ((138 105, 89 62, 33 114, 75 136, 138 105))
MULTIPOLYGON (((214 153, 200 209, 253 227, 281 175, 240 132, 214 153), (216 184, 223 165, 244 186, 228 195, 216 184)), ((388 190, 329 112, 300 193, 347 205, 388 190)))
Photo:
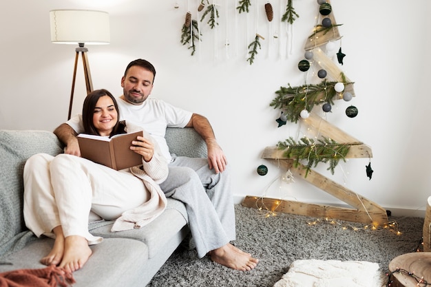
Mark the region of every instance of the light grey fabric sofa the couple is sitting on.
MULTIPOLYGON (((207 147, 194 129, 167 129, 171 153, 206 157, 207 147)), ((35 153, 56 155, 63 147, 50 131, 0 130, 0 273, 45 268, 39 263, 53 240, 36 238, 23 222, 23 167, 35 153)), ((189 233, 185 206, 168 198, 167 209, 154 222, 132 231, 110 232, 113 222, 92 222, 94 235, 105 238, 74 273, 74 287, 146 286, 189 233)))

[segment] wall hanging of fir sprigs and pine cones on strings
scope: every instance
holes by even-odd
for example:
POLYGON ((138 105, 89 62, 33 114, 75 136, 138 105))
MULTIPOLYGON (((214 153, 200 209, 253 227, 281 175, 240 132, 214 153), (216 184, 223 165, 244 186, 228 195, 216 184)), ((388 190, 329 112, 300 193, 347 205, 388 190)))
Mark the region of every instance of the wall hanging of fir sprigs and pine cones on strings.
MULTIPOLYGON (((257 59, 257 54, 260 56, 260 50, 266 49, 267 58, 270 58, 273 52, 278 50, 281 57, 282 43, 284 43, 282 39, 290 41, 290 47, 292 46, 291 25, 299 17, 293 8, 293 0, 286 0, 284 14, 280 11, 281 6, 284 4, 280 3, 280 7, 273 6, 269 0, 266 3, 262 3, 262 0, 235 0, 234 2, 229 0, 195 1, 187 0, 186 21, 182 23, 180 39, 180 43, 191 50, 191 56, 196 55, 196 52, 202 49, 204 52, 208 50, 207 46, 211 45, 211 39, 203 42, 202 37, 202 34, 206 35, 207 32, 213 35, 213 54, 216 60, 218 59, 218 51, 221 48, 225 50, 225 59, 230 59, 231 53, 229 51, 232 45, 235 45, 234 48, 236 54, 238 54, 238 46, 242 46, 243 43, 242 37, 245 37, 244 52, 246 56, 244 58, 250 65, 257 59), (262 12, 266 17, 260 17, 262 12), (232 14, 234 14, 234 17, 231 17, 232 14), (280 27, 276 22, 279 23, 280 27), (281 23, 286 23, 285 34, 276 30, 277 28, 282 30, 281 23), (206 29, 207 27, 209 30, 206 29), (218 30, 218 27, 223 29, 218 30), (274 29, 274 27, 277 28, 274 29), (289 29, 291 30, 290 33, 288 32, 289 29), (224 43, 221 43, 220 39, 223 39, 224 34, 225 40, 224 43), (220 39, 219 36, 221 36, 220 39), (264 41, 265 45, 263 45, 262 41, 264 41), (274 45, 275 41, 277 41, 278 45, 274 45)), ((175 8, 176 10, 181 10, 180 8, 182 8, 182 6, 178 5, 178 1, 175 8)), ((208 39, 207 36, 205 36, 205 39, 208 39)))

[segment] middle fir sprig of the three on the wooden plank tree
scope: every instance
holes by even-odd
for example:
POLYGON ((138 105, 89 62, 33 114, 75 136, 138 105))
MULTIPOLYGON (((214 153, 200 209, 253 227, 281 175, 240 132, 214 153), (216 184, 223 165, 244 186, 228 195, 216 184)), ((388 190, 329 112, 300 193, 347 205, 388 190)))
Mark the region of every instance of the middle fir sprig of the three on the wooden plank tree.
MULTIPOLYGON (((344 85, 350 84, 346 82, 346 77, 341 74, 344 85)), ((329 82, 324 79, 321 83, 315 85, 302 85, 299 87, 292 87, 288 84, 288 87, 280 87, 275 92, 277 96, 269 104, 274 109, 282 109, 286 114, 287 120, 292 123, 297 123, 299 114, 303 109, 311 111, 315 105, 319 105, 324 102, 328 102, 331 105, 334 104, 335 96, 335 84, 338 82, 329 82)))

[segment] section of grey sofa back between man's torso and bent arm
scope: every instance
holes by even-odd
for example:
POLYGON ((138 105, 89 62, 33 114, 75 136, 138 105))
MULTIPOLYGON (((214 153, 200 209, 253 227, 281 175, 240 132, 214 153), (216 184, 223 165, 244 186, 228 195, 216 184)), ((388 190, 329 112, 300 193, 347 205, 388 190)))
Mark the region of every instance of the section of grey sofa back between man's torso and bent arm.
POLYGON ((165 138, 169 151, 177 156, 207 158, 207 145, 193 127, 168 127, 165 138))

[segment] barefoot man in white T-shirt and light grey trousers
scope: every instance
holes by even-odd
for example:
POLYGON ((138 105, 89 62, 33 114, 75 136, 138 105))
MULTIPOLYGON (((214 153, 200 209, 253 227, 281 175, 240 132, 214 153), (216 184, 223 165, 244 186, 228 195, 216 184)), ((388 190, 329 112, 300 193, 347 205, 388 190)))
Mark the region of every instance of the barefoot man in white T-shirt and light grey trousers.
MULTIPOLYGON (((127 65, 118 98, 120 120, 138 125, 151 134, 169 160, 169 176, 160 184, 166 196, 185 203, 198 257, 210 255, 235 270, 251 270, 258 260, 229 242, 235 240, 235 213, 227 160, 204 116, 148 98, 156 70, 143 59, 127 65), (177 157, 169 153, 166 127, 193 127, 207 143, 208 159, 177 157)), ((66 145, 65 153, 80 156, 76 134, 83 131, 80 116, 57 127, 54 134, 66 145)))

